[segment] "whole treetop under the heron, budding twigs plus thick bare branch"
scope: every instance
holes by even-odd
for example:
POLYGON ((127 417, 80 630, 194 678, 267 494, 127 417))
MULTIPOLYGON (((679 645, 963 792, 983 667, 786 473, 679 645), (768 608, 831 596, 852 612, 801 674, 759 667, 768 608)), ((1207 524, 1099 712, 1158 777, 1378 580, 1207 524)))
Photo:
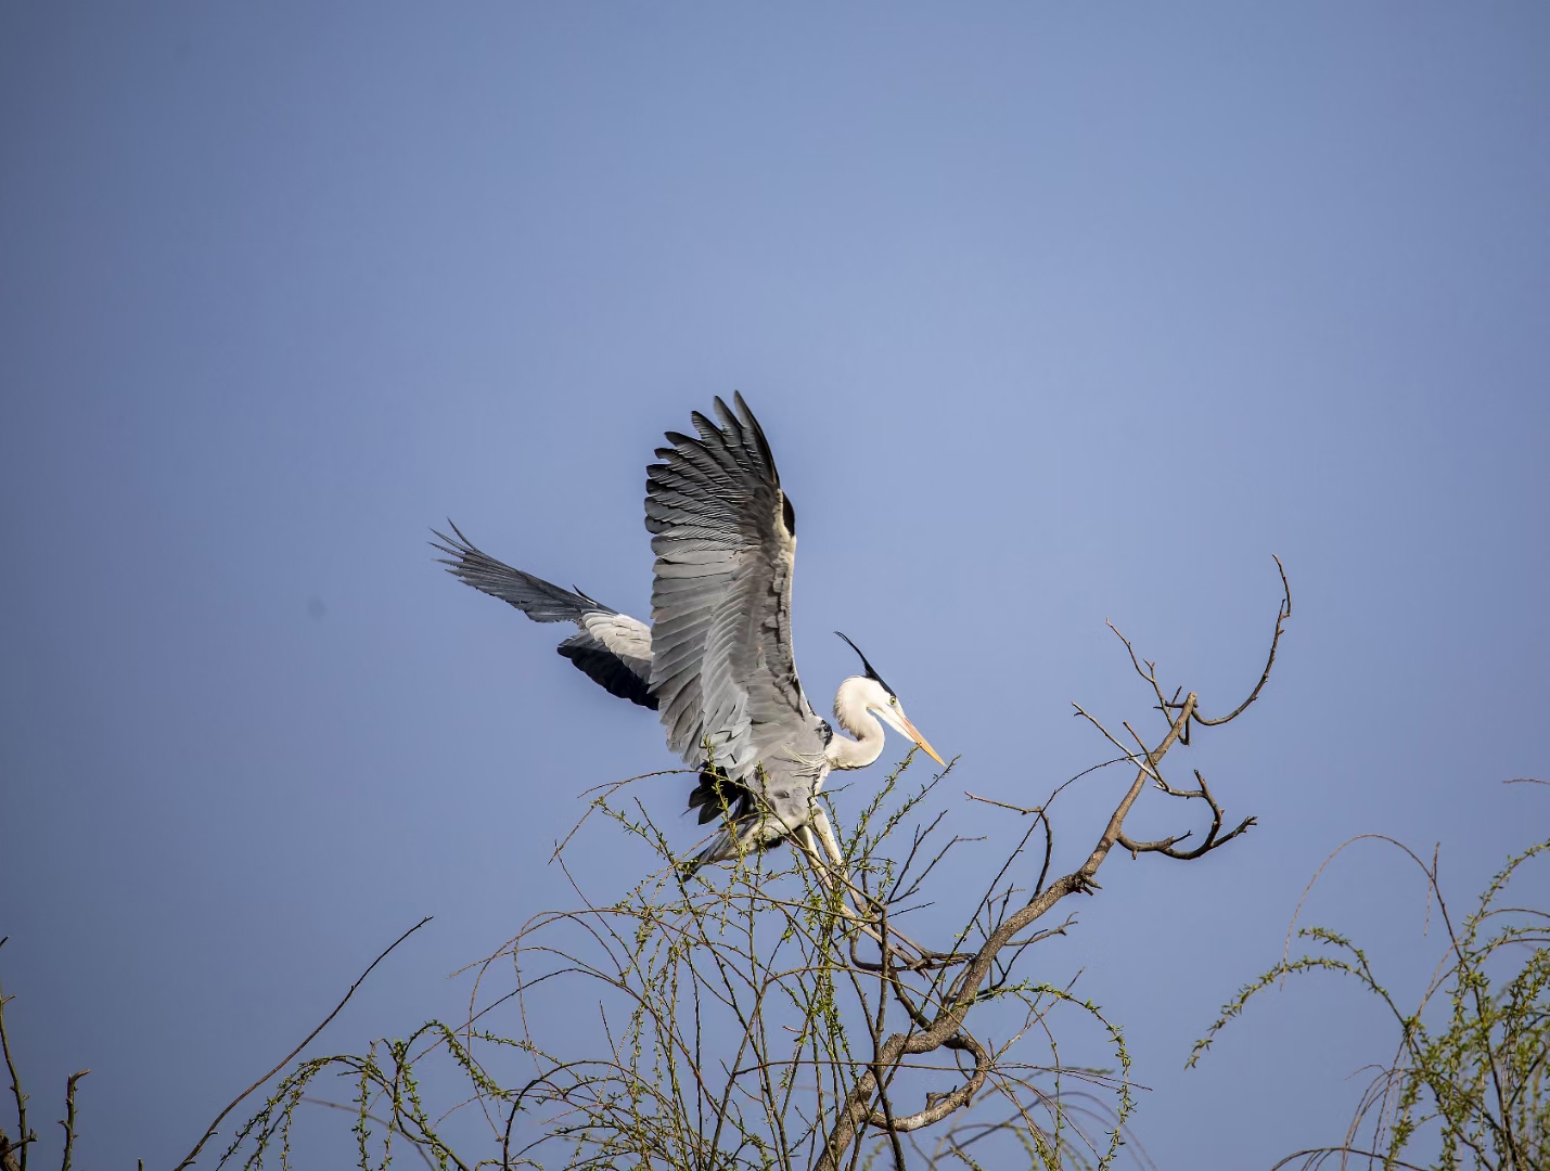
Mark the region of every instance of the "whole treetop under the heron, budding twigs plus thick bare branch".
MULTIPOLYGON (((1265 666, 1237 708, 1207 719, 1197 692, 1176 688, 1170 699, 1156 666, 1116 629, 1162 725, 1150 747, 1128 722, 1135 747, 1076 706, 1119 756, 1056 785, 1040 805, 966 795, 1014 813, 997 824, 1020 832, 1006 849, 976 847, 953 867, 953 898, 936 912, 950 915, 946 950, 922 946, 899 923, 932 905, 928 884, 941 883, 939 864, 966 841, 944 843, 944 813, 927 813, 952 765, 910 787, 907 757, 848 836, 832 829, 831 790, 792 829, 789 847, 705 869, 676 858, 632 796, 643 778, 608 785, 552 858, 578 906, 536 915, 473 965, 467 1019, 432 1021, 364 1055, 304 1061, 239 1132, 223 1165, 259 1171, 277 1154, 288 1168, 296 1112, 319 1101, 353 1114, 361 1171, 386 1171, 395 1145, 442 1171, 904 1171, 908 1156, 927 1168, 1113 1166, 1135 1109, 1124 1033, 1071 984, 1029 980, 1017 967, 1029 948, 1066 932, 1074 920, 1042 926, 1045 915, 1097 891, 1116 850, 1189 863, 1254 826, 1249 816, 1224 830, 1223 807, 1200 771, 1195 787, 1178 787, 1162 761, 1190 747, 1192 728, 1232 723, 1263 692, 1291 615, 1283 570, 1280 578, 1265 666), (1135 770, 1124 796, 1082 861, 1054 877, 1049 807, 1110 765, 1135 770), (1173 809, 1206 813, 1203 836, 1127 836, 1125 818, 1149 790, 1180 802, 1173 809), (604 849, 617 852, 622 836, 656 863, 642 866, 651 872, 622 897, 594 901, 566 866, 589 822, 612 832, 604 849), (981 866, 989 877, 976 895, 964 875, 981 866), (1110 1069, 1062 1056, 1065 1018, 1096 1033, 1110 1069), (326 1073, 352 1080, 353 1103, 312 1097, 326 1073), (422 1084, 443 1090, 439 1112, 422 1084)), ((725 802, 719 812, 733 815, 725 802)))

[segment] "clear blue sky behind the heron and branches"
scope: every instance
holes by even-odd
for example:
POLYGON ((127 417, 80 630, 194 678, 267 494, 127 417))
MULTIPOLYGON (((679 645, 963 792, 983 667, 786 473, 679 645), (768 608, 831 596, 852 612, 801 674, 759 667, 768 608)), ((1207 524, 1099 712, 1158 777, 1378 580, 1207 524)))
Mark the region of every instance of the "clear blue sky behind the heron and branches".
MULTIPOLYGON (((1105 618, 1234 703, 1282 556, 1277 677, 1198 761, 1259 829, 1114 860, 1037 967, 1127 1027, 1159 1166, 1338 1135, 1390 1047, 1350 988, 1181 1067, 1344 838, 1442 841, 1463 900, 1550 824, 1500 784, 1550 773, 1547 51, 1531 5, 8 6, 34 1109, 90 1066, 79 1162, 175 1162, 422 914, 324 1044, 450 1011, 566 903, 575 795, 668 765, 660 730, 423 539, 450 514, 645 615, 643 466, 739 389, 801 517, 808 689, 845 629, 959 788, 1100 759, 1071 700, 1145 717, 1105 618)), ((1073 857, 1116 785, 1073 793, 1073 857)), ((1401 990, 1431 968, 1375 849, 1310 912, 1401 990)))

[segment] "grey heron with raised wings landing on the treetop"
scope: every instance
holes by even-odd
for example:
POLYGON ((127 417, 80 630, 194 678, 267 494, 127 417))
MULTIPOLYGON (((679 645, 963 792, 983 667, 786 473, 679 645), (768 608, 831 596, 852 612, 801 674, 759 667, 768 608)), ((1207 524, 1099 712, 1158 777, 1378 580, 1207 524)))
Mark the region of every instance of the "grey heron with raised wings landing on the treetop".
POLYGON ((839 861, 817 795, 834 768, 865 768, 893 728, 933 761, 942 757, 904 714, 860 647, 863 674, 840 683, 835 734, 797 678, 790 578, 797 513, 780 486, 769 441, 742 395, 716 398, 698 435, 666 432, 646 468, 646 530, 656 567, 651 626, 479 550, 456 525, 436 533, 448 572, 539 623, 575 623, 560 654, 614 695, 654 708, 668 747, 701 768, 690 810, 721 830, 691 867, 725 861, 817 830, 839 861))

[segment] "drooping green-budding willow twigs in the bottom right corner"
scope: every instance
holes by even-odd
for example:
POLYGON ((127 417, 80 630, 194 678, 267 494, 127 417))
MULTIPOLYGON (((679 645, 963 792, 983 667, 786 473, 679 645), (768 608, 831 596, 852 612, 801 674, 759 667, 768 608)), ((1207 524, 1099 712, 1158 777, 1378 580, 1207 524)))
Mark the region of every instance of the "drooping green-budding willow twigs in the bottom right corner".
POLYGON ((1417 1160, 1440 1171, 1550 1166, 1545 1084, 1550 912, 1504 905, 1511 880, 1530 861, 1550 852, 1550 841, 1511 855, 1476 909, 1459 925, 1437 881, 1435 855, 1428 866, 1400 843, 1383 841, 1404 850, 1426 875, 1429 897, 1437 901, 1448 936, 1448 951, 1420 1004, 1409 1011, 1401 1008, 1380 982, 1367 953, 1345 936, 1322 926, 1302 928, 1297 936, 1318 950, 1283 959, 1242 988, 1206 1036, 1195 1042, 1189 1064, 1194 1066, 1217 1033, 1271 985, 1286 976, 1339 973, 1355 979, 1393 1018, 1398 1030, 1395 1058, 1362 1094, 1345 1142, 1297 1151, 1277 1166, 1302 1160, 1311 1169, 1333 1157, 1345 1165, 1352 1156, 1366 1157, 1384 1171, 1420 1166, 1417 1160))

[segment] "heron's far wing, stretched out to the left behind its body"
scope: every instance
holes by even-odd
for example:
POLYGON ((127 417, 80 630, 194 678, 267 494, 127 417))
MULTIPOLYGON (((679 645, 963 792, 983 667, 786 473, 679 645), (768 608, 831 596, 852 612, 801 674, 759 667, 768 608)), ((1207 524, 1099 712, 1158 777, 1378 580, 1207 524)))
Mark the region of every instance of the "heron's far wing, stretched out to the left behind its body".
POLYGON ((491 598, 510 603, 535 623, 575 623, 580 632, 560 644, 560 654, 611 694, 643 708, 657 706, 651 694, 651 630, 645 623, 581 592, 564 590, 512 568, 477 548, 457 525, 451 528, 457 536, 436 533, 440 544, 431 542, 448 555, 440 558, 448 573, 491 598))

